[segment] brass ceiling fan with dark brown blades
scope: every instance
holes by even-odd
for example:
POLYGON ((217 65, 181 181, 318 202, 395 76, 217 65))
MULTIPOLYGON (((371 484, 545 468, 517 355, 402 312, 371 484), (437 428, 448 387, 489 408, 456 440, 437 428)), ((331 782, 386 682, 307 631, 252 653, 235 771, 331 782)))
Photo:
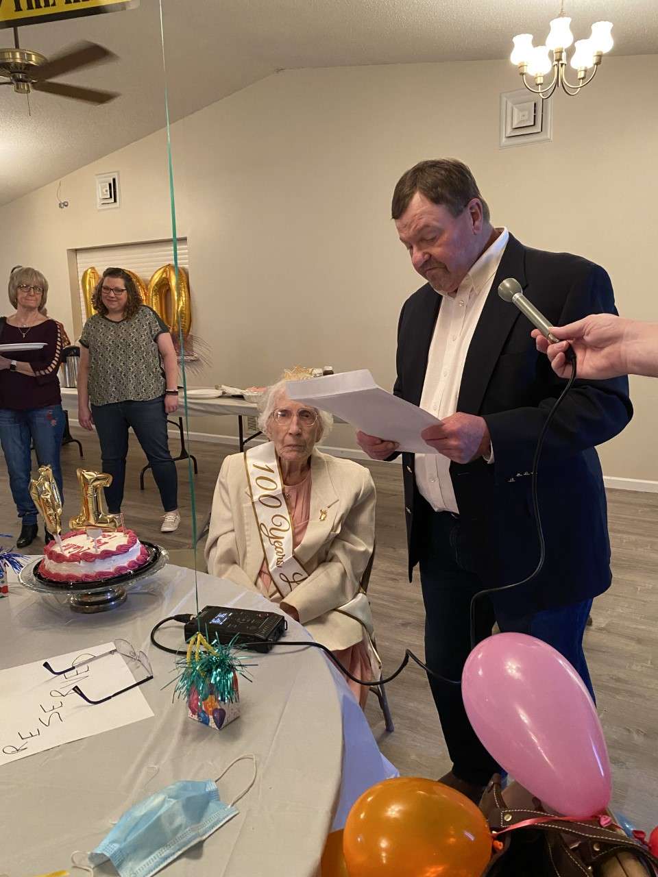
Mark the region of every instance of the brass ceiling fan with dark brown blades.
POLYGON ((18 45, 18 28, 14 28, 14 44, 12 49, 0 48, 0 77, 9 80, 9 82, 0 82, 0 85, 13 85, 14 91, 20 95, 29 95, 33 89, 87 103, 107 103, 118 97, 118 92, 115 91, 85 89, 77 85, 67 85, 65 82, 50 82, 57 76, 72 73, 91 64, 114 61, 117 55, 104 46, 82 42, 69 46, 60 54, 48 59, 38 52, 22 49, 18 45))

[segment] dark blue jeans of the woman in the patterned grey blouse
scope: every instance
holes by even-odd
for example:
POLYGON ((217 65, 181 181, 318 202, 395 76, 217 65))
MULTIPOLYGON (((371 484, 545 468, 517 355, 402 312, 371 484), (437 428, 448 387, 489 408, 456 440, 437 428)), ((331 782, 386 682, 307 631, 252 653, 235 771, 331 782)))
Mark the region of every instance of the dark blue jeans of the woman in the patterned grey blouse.
POLYGON ((101 443, 103 471, 111 474, 112 483, 105 488, 107 508, 112 514, 121 511, 124 499, 125 458, 128 453, 128 427, 137 436, 153 469, 165 511, 178 508, 178 475, 169 453, 167 414, 164 396, 146 402, 111 402, 92 405, 91 415, 101 443))

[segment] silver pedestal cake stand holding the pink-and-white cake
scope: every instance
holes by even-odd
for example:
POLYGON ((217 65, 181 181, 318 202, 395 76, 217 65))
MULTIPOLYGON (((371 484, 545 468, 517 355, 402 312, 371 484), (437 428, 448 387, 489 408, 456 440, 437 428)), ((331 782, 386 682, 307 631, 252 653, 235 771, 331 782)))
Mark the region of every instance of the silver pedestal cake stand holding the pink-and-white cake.
POLYGON ((36 591, 38 594, 49 596, 68 595, 68 605, 74 612, 107 612, 116 609, 125 602, 128 591, 144 579, 150 578, 165 567, 169 560, 168 553, 160 545, 150 542, 142 542, 149 553, 147 562, 143 567, 132 573, 115 575, 111 579, 98 579, 94 581, 48 581, 39 572, 42 557, 32 560, 18 573, 18 581, 36 591))

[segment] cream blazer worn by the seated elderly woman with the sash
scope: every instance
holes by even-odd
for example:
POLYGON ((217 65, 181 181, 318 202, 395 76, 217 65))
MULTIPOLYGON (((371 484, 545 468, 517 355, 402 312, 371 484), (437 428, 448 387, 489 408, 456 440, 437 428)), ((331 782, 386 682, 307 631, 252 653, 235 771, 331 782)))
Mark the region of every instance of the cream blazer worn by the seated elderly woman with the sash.
MULTIPOLYGON (((285 602, 313 638, 333 651, 363 636, 361 623, 338 607, 358 594, 374 541, 375 484, 368 469, 314 450, 309 524, 295 552, 309 577, 285 602)), ((258 589, 263 550, 241 453, 226 457, 219 472, 205 560, 211 575, 258 589)))

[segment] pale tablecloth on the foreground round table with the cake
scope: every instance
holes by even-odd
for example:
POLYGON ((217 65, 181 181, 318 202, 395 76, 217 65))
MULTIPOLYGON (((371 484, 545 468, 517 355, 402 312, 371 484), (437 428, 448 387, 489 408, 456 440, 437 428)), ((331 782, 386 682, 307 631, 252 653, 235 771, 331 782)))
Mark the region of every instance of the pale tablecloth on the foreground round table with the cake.
MULTIPOLYGON (((273 610, 232 582, 205 574, 198 581, 201 608, 273 610)), ((0 601, 0 667, 125 638, 153 665, 154 680, 140 690, 154 717, 0 768, 0 873, 29 877, 68 868, 71 852, 93 849, 141 798, 176 780, 214 779, 237 756, 253 752, 258 773, 238 804, 240 814, 164 873, 313 877, 327 832, 342 827, 362 791, 395 775, 353 695, 318 649, 276 647, 255 655, 254 681, 240 682, 240 718, 222 731, 190 720, 184 703, 172 702, 173 686, 162 690, 174 656, 149 642, 158 620, 195 611, 190 570, 166 567, 110 612, 75 614, 65 600, 10 586, 9 598, 0 601)), ((303 627, 289 625, 288 638, 307 638, 303 627)), ((168 623, 159 638, 180 648, 182 625, 168 623)), ((249 761, 232 767, 218 783, 222 800, 244 788, 252 771, 249 761)), ((112 873, 111 866, 96 872, 112 873)))

